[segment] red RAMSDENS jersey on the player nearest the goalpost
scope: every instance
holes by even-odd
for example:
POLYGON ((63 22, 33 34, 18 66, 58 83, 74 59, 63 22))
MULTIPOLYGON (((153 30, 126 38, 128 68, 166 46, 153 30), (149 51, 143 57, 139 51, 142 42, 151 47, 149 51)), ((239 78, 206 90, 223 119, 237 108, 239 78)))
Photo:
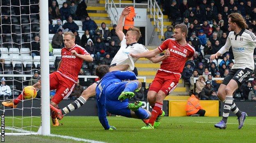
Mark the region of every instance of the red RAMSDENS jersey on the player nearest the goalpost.
POLYGON ((78 73, 82 67, 83 60, 72 55, 72 50, 75 50, 80 55, 89 54, 84 48, 77 44, 71 49, 67 49, 66 47, 62 48, 62 60, 57 72, 74 83, 77 83, 78 73))

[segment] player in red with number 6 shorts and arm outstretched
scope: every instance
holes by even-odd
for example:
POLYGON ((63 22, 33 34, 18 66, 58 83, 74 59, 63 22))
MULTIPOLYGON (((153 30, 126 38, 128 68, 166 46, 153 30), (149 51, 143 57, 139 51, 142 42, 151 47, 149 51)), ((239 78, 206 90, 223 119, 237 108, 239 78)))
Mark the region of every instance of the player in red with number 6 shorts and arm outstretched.
POLYGON ((170 50, 170 56, 162 61, 149 88, 147 99, 153 111, 149 121, 144 121, 146 126, 142 129, 153 129, 160 125, 160 119, 165 116, 165 112, 162 111, 163 100, 176 88, 186 61, 194 55, 194 48, 185 40, 187 31, 186 25, 178 24, 174 29, 175 39, 165 40, 154 50, 142 54, 130 54, 133 58, 150 58, 162 53, 165 49, 170 50))

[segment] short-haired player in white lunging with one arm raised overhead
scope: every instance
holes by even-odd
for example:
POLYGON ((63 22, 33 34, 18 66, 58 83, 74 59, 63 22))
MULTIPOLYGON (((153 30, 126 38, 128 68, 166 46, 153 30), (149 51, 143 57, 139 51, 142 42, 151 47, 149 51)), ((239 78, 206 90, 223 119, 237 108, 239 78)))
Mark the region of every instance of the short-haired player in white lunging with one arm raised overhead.
MULTIPOLYGON (((114 56, 112 63, 110 65, 110 71, 132 71, 135 67, 134 63, 138 60, 137 58, 133 58, 129 56, 130 53, 132 54, 140 54, 146 51, 149 51, 144 47, 142 44, 138 44, 137 41, 141 35, 139 29, 133 27, 129 28, 126 35, 123 33, 123 19, 126 15, 131 12, 129 7, 125 7, 121 13, 119 21, 117 23, 116 33, 119 39, 121 40, 121 47, 117 52, 116 56, 114 56)), ((160 61, 168 58, 170 55, 169 49, 165 50, 164 56, 155 56, 153 58, 149 58, 153 63, 159 63, 160 61)), ((78 109, 82 105, 85 104, 86 100, 94 96, 96 94, 96 86, 97 82, 90 85, 87 89, 85 89, 81 96, 74 101, 73 103, 69 104, 68 106, 64 107, 63 109, 57 109, 55 107, 51 107, 55 112, 58 114, 57 118, 62 119, 63 116, 75 109, 78 109)))

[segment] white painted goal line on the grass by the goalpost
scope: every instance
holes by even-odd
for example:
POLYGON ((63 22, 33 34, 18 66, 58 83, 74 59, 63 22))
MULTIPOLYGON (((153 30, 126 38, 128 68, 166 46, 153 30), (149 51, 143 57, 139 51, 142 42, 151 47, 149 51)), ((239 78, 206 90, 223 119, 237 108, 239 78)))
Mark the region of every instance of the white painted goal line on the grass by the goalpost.
MULTIPOLYGON (((15 128, 11 128, 11 127, 5 127, 6 130, 13 130, 16 132, 23 132, 23 133, 30 133, 30 134, 37 134, 37 132, 30 132, 27 130, 22 130, 22 129, 15 129, 15 128)), ((15 134, 13 134, 15 135, 15 134)), ((59 137, 59 138, 63 138, 63 139, 72 139, 74 141, 84 141, 84 142, 88 142, 88 143, 105 143, 102 141, 94 141, 94 140, 89 140, 89 139, 81 139, 81 138, 75 138, 72 136, 62 136, 62 135, 58 135, 58 134, 50 134, 50 135, 46 135, 46 136, 53 136, 53 137, 59 137)))

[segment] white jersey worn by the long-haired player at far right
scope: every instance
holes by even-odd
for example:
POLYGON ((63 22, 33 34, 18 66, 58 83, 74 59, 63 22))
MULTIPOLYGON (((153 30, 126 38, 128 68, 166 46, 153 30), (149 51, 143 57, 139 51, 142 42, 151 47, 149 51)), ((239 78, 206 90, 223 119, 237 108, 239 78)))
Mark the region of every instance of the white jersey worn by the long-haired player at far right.
POLYGON ((249 30, 242 29, 239 34, 234 31, 229 33, 226 44, 219 49, 220 54, 224 54, 232 47, 234 55, 234 65, 232 69, 249 68, 254 70, 254 48, 256 48, 256 36, 249 30))

